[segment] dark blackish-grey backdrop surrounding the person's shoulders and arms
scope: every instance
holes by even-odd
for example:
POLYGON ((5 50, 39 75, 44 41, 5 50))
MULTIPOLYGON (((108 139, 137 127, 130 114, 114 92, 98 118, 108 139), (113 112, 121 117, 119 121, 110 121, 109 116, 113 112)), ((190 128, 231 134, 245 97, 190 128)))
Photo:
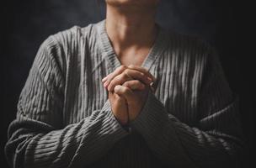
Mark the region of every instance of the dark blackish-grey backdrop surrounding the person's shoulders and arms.
MULTIPOLYGON (((244 1, 247 2, 247 1, 244 1)), ((255 82, 253 5, 233 0, 162 0, 157 22, 193 34, 216 47, 227 80, 240 96, 240 112, 248 150, 243 167, 255 165, 255 82), (254 48, 253 48, 254 47, 254 48), (249 165, 253 164, 253 165, 249 165)), ((50 35, 73 25, 84 27, 104 18, 97 0, 9 0, 1 3, 1 167, 7 128, 16 113, 19 93, 36 51, 50 35)))

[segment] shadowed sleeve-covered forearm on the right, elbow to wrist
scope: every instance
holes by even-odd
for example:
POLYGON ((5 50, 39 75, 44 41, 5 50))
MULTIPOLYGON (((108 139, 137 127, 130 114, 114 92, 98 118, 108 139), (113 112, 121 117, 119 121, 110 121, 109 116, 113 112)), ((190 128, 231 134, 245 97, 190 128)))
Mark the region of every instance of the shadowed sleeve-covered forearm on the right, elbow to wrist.
POLYGON ((131 127, 146 139, 160 159, 177 167, 232 165, 234 155, 242 148, 231 135, 214 134, 214 130, 203 131, 179 122, 152 93, 131 127))

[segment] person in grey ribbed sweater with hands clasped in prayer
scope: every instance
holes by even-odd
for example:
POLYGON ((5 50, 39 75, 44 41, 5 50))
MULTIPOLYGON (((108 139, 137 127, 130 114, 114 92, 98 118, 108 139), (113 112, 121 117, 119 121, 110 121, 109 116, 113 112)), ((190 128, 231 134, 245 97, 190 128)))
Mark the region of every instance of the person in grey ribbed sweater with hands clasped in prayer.
POLYGON ((159 0, 45 39, 8 128, 12 167, 230 167, 243 134, 216 51, 155 23, 159 0))

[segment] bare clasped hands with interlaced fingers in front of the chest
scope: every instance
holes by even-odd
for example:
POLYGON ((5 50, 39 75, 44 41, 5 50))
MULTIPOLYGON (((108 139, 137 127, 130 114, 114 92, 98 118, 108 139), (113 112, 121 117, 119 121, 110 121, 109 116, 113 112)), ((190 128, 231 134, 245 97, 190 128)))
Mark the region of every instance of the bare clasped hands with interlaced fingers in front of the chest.
POLYGON ((141 66, 120 66, 105 76, 102 82, 109 92, 109 102, 115 118, 125 125, 141 112, 155 77, 141 66))

